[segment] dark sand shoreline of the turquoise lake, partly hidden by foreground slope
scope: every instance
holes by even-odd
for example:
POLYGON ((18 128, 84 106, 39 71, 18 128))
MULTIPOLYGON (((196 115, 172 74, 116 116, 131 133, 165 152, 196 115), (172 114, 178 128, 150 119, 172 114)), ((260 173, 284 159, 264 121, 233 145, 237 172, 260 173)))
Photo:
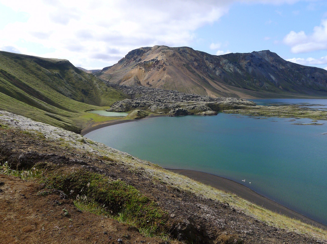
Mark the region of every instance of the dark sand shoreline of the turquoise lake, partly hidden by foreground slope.
MULTIPOLYGON (((160 116, 166 116, 166 115, 151 114, 143 119, 151 118, 151 117, 160 117, 160 116)), ((108 121, 106 123, 98 124, 95 126, 92 126, 92 124, 91 124, 90 126, 84 128, 80 134, 82 136, 84 136, 93 130, 97 130, 97 129, 104 128, 104 127, 111 126, 111 125, 133 122, 133 121, 137 121, 137 120, 136 119, 114 119, 114 120, 108 121)), ((248 188, 238 182, 235 182, 233 180, 229 180, 227 178, 223 178, 220 176, 211 175, 211 174, 203 173, 203 172, 199 172, 199 171, 194 171, 194 170, 184 170, 184 169, 167 169, 167 170, 181 174, 181 175, 185 175, 191 179, 194 179, 194 180, 197 180, 206 185, 215 187, 218 190, 234 193, 235 195, 238 195, 239 197, 244 198, 244 199, 250 201, 251 203, 254 203, 259 206, 263 206, 273 212, 284 214, 290 218, 294 218, 294 219, 300 220, 304 223, 308 223, 313 226, 317 226, 321 229, 327 230, 326 225, 319 223, 317 221, 314 221, 308 217, 305 217, 305 216, 301 215, 300 213, 293 211, 281 204, 278 204, 278 203, 256 193, 255 191, 252 191, 250 188, 248 188)))

